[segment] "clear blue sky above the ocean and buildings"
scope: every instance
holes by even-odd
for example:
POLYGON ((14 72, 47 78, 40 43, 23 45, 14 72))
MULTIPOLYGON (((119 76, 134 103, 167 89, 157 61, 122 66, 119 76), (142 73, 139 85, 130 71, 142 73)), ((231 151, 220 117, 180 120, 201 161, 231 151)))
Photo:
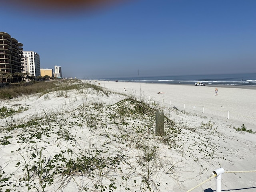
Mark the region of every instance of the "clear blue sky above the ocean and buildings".
POLYGON ((255 0, 120 0, 65 12, 13 3, 0 31, 64 77, 256 73, 255 0))

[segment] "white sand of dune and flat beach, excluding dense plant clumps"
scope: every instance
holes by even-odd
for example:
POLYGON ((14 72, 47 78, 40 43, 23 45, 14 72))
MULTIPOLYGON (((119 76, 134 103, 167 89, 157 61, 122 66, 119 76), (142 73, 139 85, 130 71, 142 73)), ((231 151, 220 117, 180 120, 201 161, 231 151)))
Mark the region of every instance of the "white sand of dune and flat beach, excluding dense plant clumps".
MULTIPOLYGON (((159 105, 164 105, 166 114, 169 114, 170 118, 181 128, 180 134, 175 138, 176 144, 170 148, 154 134, 134 132, 133 128, 142 125, 142 122, 137 119, 125 120, 128 122, 128 125, 124 126, 125 131, 117 128, 115 124, 114 126, 110 124, 109 117, 115 108, 110 105, 126 98, 120 94, 106 96, 90 88, 82 92, 81 90, 68 91, 66 96, 65 94, 57 96, 60 93, 52 92, 41 97, 29 96, 0 101, 1 107, 27 108, 19 114, 0 119, 0 140, 1 142, 6 142, 6 140, 10 142, 10 144, 0 144, 0 173, 2 175, 0 180, 10 176, 9 182, 17 184, 18 180, 28 178, 26 169, 24 169, 25 164, 31 168, 34 162, 38 162, 41 149, 43 149, 42 159, 46 160, 41 164, 42 169, 48 160, 54 159, 55 155, 62 153, 63 150, 66 150, 63 156, 67 160, 80 158, 85 151, 88 151, 88 144, 91 144, 92 150, 96 148, 110 150, 109 156, 108 153, 100 153, 100 156, 105 156, 105 159, 106 157, 115 157, 118 152, 118 154, 125 155, 126 161, 121 162, 114 172, 111 166, 104 168, 102 174, 108 176, 103 178, 95 174, 95 178, 92 179, 92 176, 80 172, 72 177, 65 174, 53 175, 54 182, 51 185, 46 184, 45 191, 70 192, 78 191, 78 189, 83 191, 83 187, 88 187, 89 191, 92 191, 91 189, 100 191, 100 189, 94 188, 94 184, 100 182, 108 186, 111 178, 116 178, 117 189, 114 191, 150 191, 147 189, 146 183, 142 182, 144 177, 148 177, 147 180, 150 187, 153 188, 152 191, 185 192, 207 180, 212 175, 212 171, 220 167, 226 171, 222 175, 223 191, 254 192, 256 190, 256 172, 227 172, 256 170, 256 134, 234 129, 234 127, 238 128, 244 124, 247 129, 256 131, 254 112, 256 90, 218 88, 218 96, 215 96, 215 88, 209 86, 106 81, 94 83, 115 92, 142 96, 144 101, 156 101, 159 105), (158 92, 165 93, 157 94, 158 92), (94 107, 87 107, 90 103, 93 106, 94 102, 110 106, 110 111, 102 108, 98 113, 94 107), (174 106, 180 111, 173 110, 174 106), (204 106, 204 113, 202 113, 202 106, 204 106), (111 110, 111 108, 113 109, 111 110), (181 112, 181 110, 185 110, 185 112, 181 112), (230 111, 229 119, 228 111, 230 111), (49 122, 51 125, 49 136, 44 132, 46 125, 38 124, 6 131, 6 126, 20 121, 26 122, 35 117, 54 120, 52 123, 49 122), (96 117, 99 124, 103 121, 102 125, 104 126, 99 126, 92 131, 92 128, 88 127, 88 123, 92 124, 91 120, 94 119, 90 119, 90 117, 96 117), (202 123, 206 124, 207 122, 213 125, 212 128, 201 127, 202 123), (65 131, 74 139, 64 140, 61 134, 65 134, 65 131), (33 134, 38 135, 39 132, 42 133, 42 137, 33 136, 33 134), (58 135, 60 132, 61 134, 58 135), (9 136, 11 137, 9 138, 9 136), (6 137, 8 138, 6 139, 6 137), (33 142, 30 143, 30 140, 33 142), (140 148, 137 146, 138 144, 146 144, 149 148, 140 148), (143 160, 143 154, 147 152, 143 149, 152 152, 150 149, 154 150, 155 148, 157 149, 157 158, 145 162, 146 165, 142 166, 142 163, 139 162, 143 160), (71 151, 67 152, 68 150, 71 151), (36 157, 33 158, 34 154, 36 157), (19 165, 17 165, 18 162, 20 162, 19 165), (122 176, 126 178, 127 175, 129 175, 128 180, 124 180, 122 176), (142 186, 144 190, 140 190, 142 186)), ((118 122, 116 123, 118 124, 118 122)), ((149 120, 147 123, 154 124, 154 120, 149 120)), ((62 163, 59 162, 59 164, 62 163)), ((65 169, 65 166, 61 166, 61 168, 65 169)), ((52 176, 53 169, 49 171, 49 174, 43 173, 42 176, 46 176, 46 178, 52 176)), ((30 170, 30 174, 30 181, 39 181, 40 174, 36 174, 34 170, 30 170)), ((1 184, 5 184, 4 181, 1 184)), ((38 187, 39 191, 43 190, 40 184, 34 186, 38 187)), ((28 190, 28 186, 25 185, 3 185, 2 188, 3 191, 9 188, 11 191, 28 190)), ((29 191, 38 190, 32 188, 29 191)), ((215 191, 215 178, 193 191, 215 191)))

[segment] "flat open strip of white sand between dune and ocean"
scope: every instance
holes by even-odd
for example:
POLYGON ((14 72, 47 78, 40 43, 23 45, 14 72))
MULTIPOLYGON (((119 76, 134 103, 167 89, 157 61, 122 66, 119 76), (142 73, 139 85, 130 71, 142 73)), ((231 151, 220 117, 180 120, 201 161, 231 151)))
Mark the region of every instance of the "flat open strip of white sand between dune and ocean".
POLYGON ((215 86, 184 84, 146 84, 134 82, 98 81, 101 86, 126 94, 143 96, 167 107, 176 107, 190 113, 207 116, 212 120, 241 126, 256 131, 256 87, 221 86, 218 96, 215 86), (124 88, 126 91, 124 91, 124 88), (158 92, 164 92, 158 94, 158 92))

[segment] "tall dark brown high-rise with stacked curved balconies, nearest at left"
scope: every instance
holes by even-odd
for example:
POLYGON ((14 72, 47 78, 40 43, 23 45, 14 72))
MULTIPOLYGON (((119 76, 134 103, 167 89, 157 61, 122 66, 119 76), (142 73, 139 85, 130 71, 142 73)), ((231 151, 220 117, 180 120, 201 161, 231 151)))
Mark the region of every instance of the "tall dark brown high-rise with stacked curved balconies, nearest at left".
MULTIPOLYGON (((15 75, 16 72, 23 72, 23 44, 12 38, 6 32, 0 32, 0 71, 2 82, 18 82, 17 78, 7 78, 8 73, 15 75)), ((20 77, 21 80, 21 77, 20 77)))

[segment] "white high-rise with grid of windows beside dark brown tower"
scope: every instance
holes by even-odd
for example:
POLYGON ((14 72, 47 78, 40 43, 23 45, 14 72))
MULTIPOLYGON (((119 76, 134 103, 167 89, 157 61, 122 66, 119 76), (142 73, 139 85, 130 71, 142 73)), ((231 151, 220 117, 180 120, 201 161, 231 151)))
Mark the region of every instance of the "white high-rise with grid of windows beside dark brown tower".
POLYGON ((31 76, 40 76, 40 56, 34 51, 23 52, 24 73, 30 73, 31 76))

